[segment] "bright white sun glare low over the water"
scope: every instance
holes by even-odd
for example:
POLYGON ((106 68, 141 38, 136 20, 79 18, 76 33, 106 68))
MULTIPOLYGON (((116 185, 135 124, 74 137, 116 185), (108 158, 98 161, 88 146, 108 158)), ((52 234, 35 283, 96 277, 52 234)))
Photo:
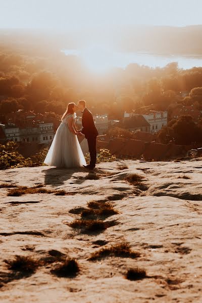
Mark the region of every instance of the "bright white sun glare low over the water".
POLYGON ((104 45, 82 49, 80 57, 86 67, 95 73, 105 73, 114 67, 113 51, 104 45))

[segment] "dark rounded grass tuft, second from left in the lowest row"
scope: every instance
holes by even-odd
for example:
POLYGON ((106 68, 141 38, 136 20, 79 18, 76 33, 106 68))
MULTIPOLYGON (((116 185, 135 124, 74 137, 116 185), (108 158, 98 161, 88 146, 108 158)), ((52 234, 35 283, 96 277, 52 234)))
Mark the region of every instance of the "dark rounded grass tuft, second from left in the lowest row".
POLYGON ((52 273, 59 277, 75 277, 79 272, 79 266, 75 259, 66 259, 52 270, 52 273))

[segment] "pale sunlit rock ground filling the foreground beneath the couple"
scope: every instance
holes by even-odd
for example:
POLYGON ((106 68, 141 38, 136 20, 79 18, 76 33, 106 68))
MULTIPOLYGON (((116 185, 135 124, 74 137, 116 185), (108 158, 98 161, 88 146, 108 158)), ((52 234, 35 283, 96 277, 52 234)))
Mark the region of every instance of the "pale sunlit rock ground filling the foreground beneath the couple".
POLYGON ((201 181, 201 159, 100 163, 94 173, 47 166, 1 171, 1 302, 201 302, 201 181), (14 185, 27 191, 16 196, 23 189, 14 185), (31 193, 34 186, 45 192, 31 193), (70 226, 82 211, 92 211, 89 201, 117 214, 98 218, 103 229, 70 226), (89 260, 122 243, 137 257, 89 260), (38 266, 9 268, 16 255, 38 266), (67 258, 78 263, 75 276, 56 274, 67 258), (145 277, 127 279, 137 267, 145 277))

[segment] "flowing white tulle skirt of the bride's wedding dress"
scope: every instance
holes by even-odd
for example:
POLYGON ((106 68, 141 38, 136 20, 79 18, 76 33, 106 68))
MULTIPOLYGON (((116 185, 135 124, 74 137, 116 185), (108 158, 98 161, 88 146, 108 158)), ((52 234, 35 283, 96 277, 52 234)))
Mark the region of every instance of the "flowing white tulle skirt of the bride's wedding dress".
POLYGON ((57 129, 44 163, 56 167, 82 167, 86 165, 78 138, 62 122, 57 129))

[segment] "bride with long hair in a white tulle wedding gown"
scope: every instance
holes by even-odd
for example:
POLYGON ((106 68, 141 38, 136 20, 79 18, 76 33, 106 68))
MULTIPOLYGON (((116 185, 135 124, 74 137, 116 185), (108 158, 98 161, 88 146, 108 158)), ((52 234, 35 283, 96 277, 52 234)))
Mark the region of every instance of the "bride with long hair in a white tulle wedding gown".
POLYGON ((51 147, 48 150, 44 163, 56 167, 82 167, 86 165, 75 126, 75 111, 77 106, 69 103, 57 129, 51 147))

